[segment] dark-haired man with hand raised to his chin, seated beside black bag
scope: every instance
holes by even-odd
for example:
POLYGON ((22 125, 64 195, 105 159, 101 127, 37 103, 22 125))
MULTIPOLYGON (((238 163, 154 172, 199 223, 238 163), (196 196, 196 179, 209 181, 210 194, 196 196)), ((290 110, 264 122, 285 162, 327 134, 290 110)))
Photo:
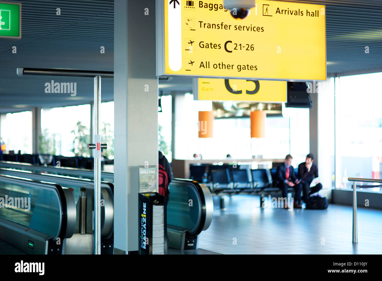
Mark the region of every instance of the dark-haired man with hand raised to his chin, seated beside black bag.
POLYGON ((312 180, 318 177, 318 168, 317 165, 313 163, 314 156, 312 153, 309 153, 306 156, 305 162, 302 162, 298 165, 298 178, 301 180, 303 187, 303 200, 306 203, 309 196, 313 193, 318 192, 322 189, 322 184, 318 181, 315 182, 315 186, 310 188, 312 180))

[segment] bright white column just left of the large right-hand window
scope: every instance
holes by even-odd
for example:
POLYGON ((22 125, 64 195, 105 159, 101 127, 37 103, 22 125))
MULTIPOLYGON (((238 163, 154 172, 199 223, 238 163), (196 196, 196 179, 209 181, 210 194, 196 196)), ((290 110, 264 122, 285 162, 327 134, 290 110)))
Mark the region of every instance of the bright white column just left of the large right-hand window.
MULTIPOLYGON (((315 85, 314 85, 315 86, 315 85)), ((331 199, 334 172, 334 92, 330 78, 319 82, 311 93, 312 108, 309 110, 309 146, 318 166, 323 191, 331 199)))

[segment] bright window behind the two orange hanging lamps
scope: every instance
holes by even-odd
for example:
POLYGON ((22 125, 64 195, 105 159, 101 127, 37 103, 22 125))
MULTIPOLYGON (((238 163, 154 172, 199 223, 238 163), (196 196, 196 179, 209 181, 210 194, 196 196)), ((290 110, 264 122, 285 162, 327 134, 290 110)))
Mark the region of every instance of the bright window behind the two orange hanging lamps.
MULTIPOLYGON (((287 117, 269 114, 265 138, 250 138, 249 116, 215 118, 213 138, 198 138, 198 111, 212 110, 211 102, 194 101, 192 94, 185 94, 183 103, 187 106, 182 107, 183 116, 178 116, 175 125, 176 159, 193 159, 194 153, 201 154, 203 159, 225 159, 227 154, 236 159, 251 159, 252 156, 283 159, 292 150, 293 165, 297 166, 309 153, 309 109, 290 108, 287 117)), ((168 118, 170 120, 170 115, 168 118)))

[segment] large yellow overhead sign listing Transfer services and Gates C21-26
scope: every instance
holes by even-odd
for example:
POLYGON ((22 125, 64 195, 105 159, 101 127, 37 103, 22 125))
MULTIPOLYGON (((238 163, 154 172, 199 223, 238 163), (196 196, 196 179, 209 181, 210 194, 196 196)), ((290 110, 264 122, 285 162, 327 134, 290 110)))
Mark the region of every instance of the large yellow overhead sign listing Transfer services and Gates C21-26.
POLYGON ((256 0, 235 19, 223 0, 161 0, 157 75, 326 80, 325 6, 256 0))

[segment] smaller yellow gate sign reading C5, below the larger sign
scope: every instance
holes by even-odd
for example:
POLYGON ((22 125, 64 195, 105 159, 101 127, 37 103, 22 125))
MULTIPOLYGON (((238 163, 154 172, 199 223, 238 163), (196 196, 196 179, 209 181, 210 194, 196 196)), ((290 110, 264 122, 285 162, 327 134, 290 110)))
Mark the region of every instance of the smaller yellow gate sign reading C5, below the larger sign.
POLYGON ((286 81, 199 78, 198 99, 286 102, 286 81))

